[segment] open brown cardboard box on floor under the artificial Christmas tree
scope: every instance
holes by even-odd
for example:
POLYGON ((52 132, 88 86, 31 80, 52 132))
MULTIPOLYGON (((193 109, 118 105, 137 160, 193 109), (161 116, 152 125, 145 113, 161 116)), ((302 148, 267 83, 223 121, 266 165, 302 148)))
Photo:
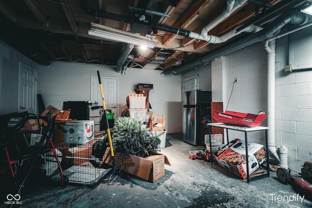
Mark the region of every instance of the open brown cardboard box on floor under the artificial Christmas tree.
MULTIPOLYGON (((109 165, 113 165, 110 155, 110 148, 107 148, 103 156, 103 161, 109 165)), ((114 151, 114 157, 118 169, 149 182, 155 182, 163 177, 165 175, 165 164, 170 165, 168 158, 164 154, 157 152, 145 158, 129 154, 128 157, 121 159, 118 152, 114 151)))

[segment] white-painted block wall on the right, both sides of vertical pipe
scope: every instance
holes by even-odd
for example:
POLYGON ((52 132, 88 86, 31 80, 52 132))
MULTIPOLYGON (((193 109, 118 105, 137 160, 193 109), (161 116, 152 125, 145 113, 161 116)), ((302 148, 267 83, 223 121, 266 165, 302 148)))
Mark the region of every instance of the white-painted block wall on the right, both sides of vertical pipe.
MULTIPOLYGON (((308 28, 276 40, 275 89, 270 89, 275 90, 276 148, 278 146, 288 148, 289 168, 297 171, 300 171, 304 161, 312 160, 312 71, 286 74, 284 68, 290 63, 288 60, 290 50, 292 52, 299 49, 304 51, 304 53, 302 51, 295 53, 298 60, 300 55, 304 57, 312 55, 309 47, 297 47, 295 50, 288 48, 288 45, 293 45, 292 40, 311 42, 311 37, 312 30, 308 28)), ((225 80, 223 102, 226 103, 225 106, 228 105, 227 110, 242 113, 266 112, 267 53, 263 43, 246 47, 222 59, 222 62, 219 59, 214 62, 222 63, 226 68, 223 72, 223 76, 224 74, 226 76, 223 79, 225 80), (233 86, 234 77, 238 77, 238 83, 233 86), (230 99, 232 87, 233 93, 230 99)), ((213 72, 214 62, 212 63, 213 72)), ((219 66, 218 69, 220 69, 219 66)), ((212 76, 213 80, 214 76, 215 74, 212 76)), ((212 88, 218 89, 218 87, 213 85, 212 88)), ((262 125, 267 126, 267 119, 262 125)), ((264 132, 253 132, 248 135, 250 142, 264 144, 264 132)), ((229 131, 229 139, 233 138, 244 139, 244 134, 229 131)))

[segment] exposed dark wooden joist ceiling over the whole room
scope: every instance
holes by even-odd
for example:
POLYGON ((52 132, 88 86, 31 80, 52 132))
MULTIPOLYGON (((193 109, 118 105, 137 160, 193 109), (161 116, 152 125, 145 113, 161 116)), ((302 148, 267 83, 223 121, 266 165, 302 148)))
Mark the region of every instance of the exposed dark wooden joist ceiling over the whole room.
MULTIPOLYGON (((255 24, 265 27, 303 2, 248 0, 243 7, 212 28, 209 35, 222 36, 236 26, 244 28, 255 24)), ((186 38, 190 32, 200 34, 202 28, 214 21, 225 7, 226 0, 0 0, 0 38, 43 65, 51 61, 71 61, 116 66, 126 40, 88 35, 91 22, 118 31, 131 31, 142 37, 150 37, 153 31, 155 34, 151 38, 158 41, 157 45, 144 53, 139 52, 136 45, 128 55, 132 60, 129 67, 174 69, 178 64, 204 57, 244 35, 222 44, 186 38), (146 7, 158 14, 150 15, 144 9, 134 12, 129 6, 146 7), (147 15, 146 21, 138 20, 142 14, 147 15), (152 28, 155 24, 160 24, 157 25, 160 29, 152 28), (183 32, 175 35, 176 31, 183 32)))

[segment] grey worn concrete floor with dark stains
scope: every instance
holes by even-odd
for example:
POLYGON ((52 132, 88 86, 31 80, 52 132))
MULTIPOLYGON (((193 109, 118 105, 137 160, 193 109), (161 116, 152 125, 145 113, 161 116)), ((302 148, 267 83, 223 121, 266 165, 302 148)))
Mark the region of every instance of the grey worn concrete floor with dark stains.
MULTIPOLYGON (((311 208, 301 201, 291 185, 270 177, 247 183, 217 164, 189 159, 189 151, 202 149, 182 140, 182 134, 167 134, 161 149, 171 166, 155 183, 126 172, 109 185, 108 175, 97 187, 34 185, 23 192, 22 208, 311 208), (284 200, 279 200, 282 196, 284 200), (293 197, 295 196, 295 197, 293 197), (291 200, 287 201, 286 198, 291 200), (293 200, 294 199, 294 200, 293 200)), ((114 177, 115 175, 113 175, 114 177)), ((3 205, 3 204, 2 204, 3 205)))

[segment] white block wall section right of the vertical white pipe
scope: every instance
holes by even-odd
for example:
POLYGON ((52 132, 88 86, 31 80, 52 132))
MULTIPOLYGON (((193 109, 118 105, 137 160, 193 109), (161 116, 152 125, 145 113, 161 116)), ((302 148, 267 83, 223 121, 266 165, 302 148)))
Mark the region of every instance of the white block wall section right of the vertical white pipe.
POLYGON ((292 58, 311 57, 311 36, 307 28, 276 40, 275 141, 288 148, 289 166, 298 171, 312 160, 312 71, 286 74, 284 68, 292 58))

